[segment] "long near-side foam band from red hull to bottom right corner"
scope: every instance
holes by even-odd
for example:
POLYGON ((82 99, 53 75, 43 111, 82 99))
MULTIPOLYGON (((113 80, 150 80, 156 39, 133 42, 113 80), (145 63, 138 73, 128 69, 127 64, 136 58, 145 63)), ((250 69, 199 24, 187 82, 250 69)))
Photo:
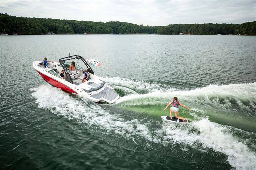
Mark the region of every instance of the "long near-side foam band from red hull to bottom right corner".
MULTIPOLYGON (((102 133, 120 134, 127 140, 133 140, 135 144, 141 145, 144 143, 140 143, 141 140, 136 141, 134 138, 142 137, 159 144, 167 142, 183 143, 188 146, 194 145, 199 150, 203 146, 204 148, 211 148, 216 152, 226 154, 228 162, 236 169, 254 169, 256 167, 255 152, 251 151, 245 142, 240 142, 236 137, 233 137, 228 126, 211 122, 208 119, 188 123, 186 126, 176 126, 173 123, 160 122, 162 124, 161 129, 150 129, 150 124, 156 122, 148 121, 143 123, 143 120, 138 120, 135 117, 128 121, 124 120, 116 113, 111 113, 91 102, 84 103, 79 98, 50 85, 41 85, 32 90, 35 91, 32 95, 36 98, 38 107, 46 108, 56 115, 61 115, 78 124, 83 124, 92 130, 100 129, 102 133), (196 132, 191 132, 190 129, 196 129, 196 132), (164 133, 166 135, 163 137, 164 133)), ((252 90, 250 89, 250 91, 252 90)), ((251 133, 251 135, 255 138, 254 133, 251 133)))

